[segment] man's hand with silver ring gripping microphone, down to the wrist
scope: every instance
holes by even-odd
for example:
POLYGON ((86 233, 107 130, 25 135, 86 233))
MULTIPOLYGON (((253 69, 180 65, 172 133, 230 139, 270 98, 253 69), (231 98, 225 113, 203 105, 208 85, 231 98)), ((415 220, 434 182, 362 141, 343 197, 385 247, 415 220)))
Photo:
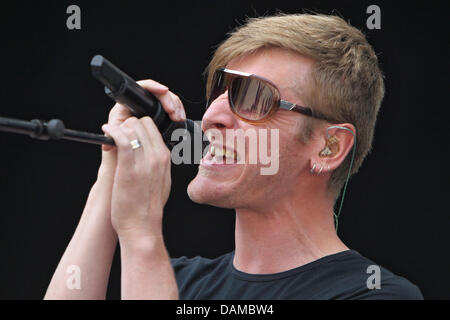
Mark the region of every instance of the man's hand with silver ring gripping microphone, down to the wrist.
MULTIPOLYGON (((139 84, 161 101, 173 121, 185 120, 180 99, 167 87, 153 80, 139 84)), ((114 168, 111 221, 119 240, 162 236, 162 210, 171 185, 170 151, 158 128, 151 118, 131 117, 126 107, 117 104, 102 129, 116 143, 115 148, 103 147, 107 153, 103 161, 109 170, 114 168), (132 140, 139 140, 141 147, 132 149, 132 140)))

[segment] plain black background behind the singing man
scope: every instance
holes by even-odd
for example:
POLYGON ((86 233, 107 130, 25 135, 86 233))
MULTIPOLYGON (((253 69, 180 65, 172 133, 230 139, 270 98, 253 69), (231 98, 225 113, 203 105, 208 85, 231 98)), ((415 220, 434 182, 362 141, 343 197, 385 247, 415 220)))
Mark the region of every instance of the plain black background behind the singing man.
MULTIPOLYGON (((373 152, 351 179, 339 234, 351 248, 449 299, 448 15, 442 2, 53 1, 2 2, 0 116, 64 120, 101 133, 112 101, 90 74, 102 54, 135 79, 180 95, 187 116, 204 108, 202 75, 213 48, 247 17, 341 15, 367 35, 386 76, 373 152), (81 30, 66 8, 81 8, 81 30), (368 30, 366 8, 381 8, 368 30)), ((41 299, 68 244, 100 163, 99 147, 0 133, 0 298, 41 299)), ((192 203, 195 165, 173 166, 164 232, 171 255, 215 257, 234 246, 234 213, 192 203)), ((108 297, 120 298, 120 261, 108 297)))

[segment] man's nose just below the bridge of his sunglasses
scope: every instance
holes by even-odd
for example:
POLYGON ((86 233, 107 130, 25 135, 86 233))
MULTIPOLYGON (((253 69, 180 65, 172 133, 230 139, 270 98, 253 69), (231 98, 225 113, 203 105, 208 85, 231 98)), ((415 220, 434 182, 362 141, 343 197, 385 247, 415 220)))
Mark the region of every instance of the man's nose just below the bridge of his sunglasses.
POLYGON ((206 110, 202 119, 202 130, 231 129, 237 125, 228 101, 228 90, 217 97, 206 110))

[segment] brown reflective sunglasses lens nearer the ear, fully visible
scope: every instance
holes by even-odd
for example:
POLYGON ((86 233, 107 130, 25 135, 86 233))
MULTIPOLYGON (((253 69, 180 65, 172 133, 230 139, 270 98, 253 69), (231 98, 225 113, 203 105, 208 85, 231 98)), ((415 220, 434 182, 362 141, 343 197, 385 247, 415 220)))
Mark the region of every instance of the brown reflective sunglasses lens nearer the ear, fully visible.
POLYGON ((253 121, 266 117, 276 99, 268 84, 250 77, 233 79, 230 97, 233 110, 242 118, 253 121))

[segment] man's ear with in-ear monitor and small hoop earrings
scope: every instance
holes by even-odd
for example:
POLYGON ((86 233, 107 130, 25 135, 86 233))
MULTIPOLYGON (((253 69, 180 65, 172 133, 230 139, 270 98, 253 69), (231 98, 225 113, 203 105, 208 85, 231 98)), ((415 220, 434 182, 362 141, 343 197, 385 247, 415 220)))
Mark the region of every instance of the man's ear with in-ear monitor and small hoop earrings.
POLYGON ((323 132, 323 145, 311 159, 311 173, 328 173, 338 168, 351 151, 356 129, 350 123, 331 125, 323 132))

